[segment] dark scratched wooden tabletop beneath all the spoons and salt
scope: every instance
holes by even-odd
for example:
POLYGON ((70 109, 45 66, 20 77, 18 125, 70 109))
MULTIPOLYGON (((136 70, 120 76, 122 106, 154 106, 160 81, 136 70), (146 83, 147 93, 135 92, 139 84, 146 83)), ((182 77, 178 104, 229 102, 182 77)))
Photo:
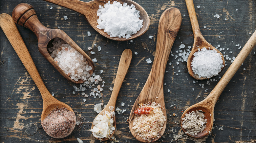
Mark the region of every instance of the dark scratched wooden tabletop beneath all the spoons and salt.
MULTIPOLYGON (((167 143, 173 140, 173 133, 170 130, 174 129, 177 132, 181 130, 179 120, 182 110, 184 111, 188 106, 202 101, 217 84, 219 76, 215 77, 214 81, 210 81, 210 85, 206 84, 207 80, 198 81, 194 84, 194 80, 187 73, 186 62, 178 61, 180 56, 176 51, 179 50, 179 46, 185 44, 184 49, 187 50, 188 46, 193 45, 193 33, 185 1, 135 1, 147 11, 151 24, 148 31, 133 42, 108 40, 93 30, 82 15, 42 0, 0 1, 0 13, 10 15, 13 8, 19 3, 31 4, 42 24, 49 28, 59 27, 91 58, 97 58, 95 73, 99 74, 100 70, 103 70, 104 72, 99 75, 105 81, 103 96, 101 98, 88 97, 86 98, 87 101, 83 103, 84 97, 81 92, 72 94, 73 86, 79 87, 79 85, 67 81, 39 53, 37 39, 32 31, 20 25, 17 26, 46 87, 50 92, 55 93, 54 97, 56 99, 70 105, 75 111, 77 119, 81 122, 68 137, 63 139, 51 138, 46 135, 40 123, 43 107, 40 92, 3 31, 0 30, 1 142, 77 142, 76 138, 79 137, 83 142, 98 143, 99 141, 95 140, 89 131, 92 121, 97 115, 93 108, 97 103, 106 104, 108 102, 111 95, 109 87, 114 86, 119 59, 122 51, 126 48, 138 52, 138 55, 133 54, 129 71, 117 98, 116 106, 120 109, 126 109, 126 111, 123 114, 116 115, 117 131, 114 136, 119 142, 138 142, 129 133, 126 119, 129 117, 132 107, 128 105, 132 105, 136 100, 152 67, 152 63, 147 64, 146 59, 154 60, 160 15, 165 9, 176 7, 181 11, 182 23, 172 48, 174 56, 170 56, 168 61, 172 64, 167 64, 164 79, 164 83, 166 83, 164 85, 164 96, 167 127, 165 134, 157 142, 167 143), (50 9, 51 7, 53 9, 50 9), (67 20, 63 18, 65 15, 68 17, 67 20), (92 36, 88 37, 87 31, 90 31, 92 36), (153 36, 152 40, 149 39, 150 35, 153 36), (102 50, 98 52, 97 46, 94 46, 94 44, 101 46, 102 50), (87 50, 89 46, 93 47, 96 54, 91 55, 89 53, 87 50), (175 58, 176 55, 178 58, 175 58), (204 87, 202 88, 202 85, 199 84, 204 84, 204 87), (168 92, 168 89, 170 89, 170 92, 168 92), (125 103, 124 107, 121 106, 121 102, 125 103), (171 107, 172 105, 176 109, 171 107), (174 117, 173 113, 177 114, 177 117, 174 117), (27 124, 30 128, 26 127, 27 124), (31 135, 28 135, 25 131, 31 135)), ((237 56, 241 50, 235 45, 240 44, 243 47, 249 39, 250 33, 253 33, 256 29, 256 1, 194 0, 194 5, 195 7, 200 6, 200 8, 196 8, 196 13, 204 38, 215 47, 220 45, 220 48, 225 48, 221 52, 223 52, 223 55, 228 55, 232 60, 232 57, 237 56), (214 17, 216 14, 220 15, 220 18, 214 17), (229 49, 227 50, 227 48, 229 49)), ((256 49, 252 50, 220 96, 214 111, 216 127, 213 130, 213 135, 206 140, 207 143, 256 142, 255 51, 256 49), (223 131, 216 129, 221 126, 223 126, 223 131)), ((231 60, 225 60, 227 65, 220 77, 230 66, 231 60)), ((178 142, 192 141, 181 140, 178 142)))

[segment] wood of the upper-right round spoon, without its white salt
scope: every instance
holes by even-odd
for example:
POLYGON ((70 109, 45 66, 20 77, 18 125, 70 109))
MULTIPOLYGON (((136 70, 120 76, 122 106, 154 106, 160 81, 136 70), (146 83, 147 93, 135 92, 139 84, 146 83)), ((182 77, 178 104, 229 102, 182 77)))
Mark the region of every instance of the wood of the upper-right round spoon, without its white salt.
MULTIPOLYGON (((208 79, 206 77, 199 77, 198 74, 195 74, 192 70, 191 62, 192 62, 193 57, 194 57, 193 54, 198 52, 198 48, 203 49, 205 47, 205 48, 210 49, 210 50, 216 50, 222 56, 223 65, 225 65, 225 59, 224 59, 222 53, 218 49, 213 47, 210 43, 208 43, 203 38, 203 35, 202 35, 202 33, 200 32, 200 29, 199 29, 199 24, 198 24, 198 21, 197 21, 197 16, 196 16, 196 11, 195 11, 193 0, 185 0, 185 1, 186 1, 189 18, 190 18, 191 25, 192 25, 193 34, 194 34, 194 44, 193 44, 193 48, 191 50, 191 53, 189 54, 188 59, 187 59, 187 69, 188 69, 188 72, 189 72, 190 76, 192 76, 196 80, 208 79)), ((224 67, 221 68, 221 71, 223 70, 223 68, 224 67)))

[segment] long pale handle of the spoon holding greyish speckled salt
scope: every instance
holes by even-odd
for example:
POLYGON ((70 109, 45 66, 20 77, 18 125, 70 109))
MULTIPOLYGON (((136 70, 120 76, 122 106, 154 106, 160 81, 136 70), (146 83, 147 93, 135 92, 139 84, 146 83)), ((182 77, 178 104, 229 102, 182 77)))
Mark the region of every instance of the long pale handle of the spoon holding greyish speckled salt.
MULTIPOLYGON (((256 30, 250 37, 250 39, 246 42, 243 49, 240 51, 240 53, 237 55, 236 59, 233 61, 233 63, 230 65, 230 67, 227 69, 225 74, 222 76, 219 83, 213 88, 211 93, 207 96, 207 98, 212 98, 213 102, 212 104, 215 105, 218 98, 220 97, 222 91, 227 86, 228 82, 231 80, 231 78, 234 76, 236 71, 239 69, 239 67, 242 65, 242 63, 245 61, 246 57, 249 55, 253 47, 256 45, 256 30)), ((205 99, 207 100, 207 99, 205 99)))

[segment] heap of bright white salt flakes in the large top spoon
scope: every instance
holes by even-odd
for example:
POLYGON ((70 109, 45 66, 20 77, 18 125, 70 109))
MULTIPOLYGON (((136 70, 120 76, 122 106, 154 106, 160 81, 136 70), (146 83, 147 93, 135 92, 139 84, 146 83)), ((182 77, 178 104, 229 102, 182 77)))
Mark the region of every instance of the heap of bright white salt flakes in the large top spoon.
POLYGON ((104 6, 99 5, 97 16, 99 16, 97 28, 104 29, 110 37, 128 39, 143 26, 143 20, 139 19, 139 11, 133 4, 122 5, 117 1, 110 4, 108 1, 104 6))

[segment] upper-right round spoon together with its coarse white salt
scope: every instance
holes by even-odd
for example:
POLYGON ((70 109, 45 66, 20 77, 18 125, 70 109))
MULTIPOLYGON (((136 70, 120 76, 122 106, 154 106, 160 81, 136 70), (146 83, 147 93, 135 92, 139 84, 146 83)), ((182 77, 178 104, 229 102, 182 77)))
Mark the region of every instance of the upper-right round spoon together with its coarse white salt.
POLYGON ((187 59, 188 72, 196 80, 215 77, 224 68, 224 57, 218 49, 203 38, 193 0, 186 0, 186 5, 194 34, 193 48, 187 59))

